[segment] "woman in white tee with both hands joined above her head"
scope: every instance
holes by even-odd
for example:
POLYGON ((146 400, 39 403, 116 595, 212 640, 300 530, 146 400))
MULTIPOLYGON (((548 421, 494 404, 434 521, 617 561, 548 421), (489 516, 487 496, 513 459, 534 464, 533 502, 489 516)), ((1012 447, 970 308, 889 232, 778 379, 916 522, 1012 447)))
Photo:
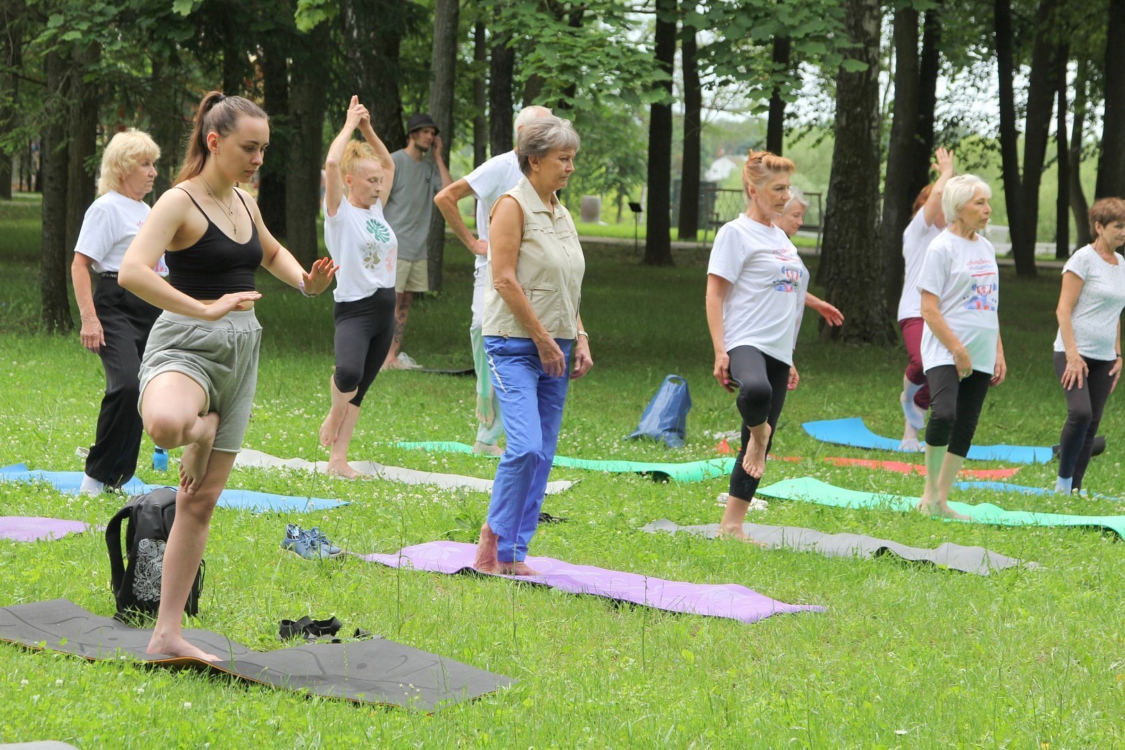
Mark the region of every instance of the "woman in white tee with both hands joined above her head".
POLYGON ((382 215, 395 163, 358 97, 352 97, 344 127, 328 147, 324 171, 324 244, 340 270, 332 310, 336 369, 330 382, 332 406, 321 424, 321 444, 331 448, 328 473, 356 479, 360 473, 348 464, 348 446, 363 396, 390 351, 398 250, 382 215), (366 143, 351 139, 356 128, 366 143))

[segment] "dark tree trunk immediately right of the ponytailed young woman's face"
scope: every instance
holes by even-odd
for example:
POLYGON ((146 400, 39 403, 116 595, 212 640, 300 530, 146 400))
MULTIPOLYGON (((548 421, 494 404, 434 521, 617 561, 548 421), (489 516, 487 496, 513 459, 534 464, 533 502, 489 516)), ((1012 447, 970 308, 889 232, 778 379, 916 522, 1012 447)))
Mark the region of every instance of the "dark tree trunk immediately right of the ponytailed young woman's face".
MULTIPOLYGON (((291 12, 291 11, 290 11, 291 12)), ((259 170, 258 207, 262 222, 270 234, 288 238, 286 218, 286 174, 289 172, 289 156, 292 154, 289 119, 289 63, 288 54, 294 45, 292 35, 284 29, 273 29, 268 42, 262 45, 258 58, 262 71, 262 98, 270 115, 270 150, 259 170)))

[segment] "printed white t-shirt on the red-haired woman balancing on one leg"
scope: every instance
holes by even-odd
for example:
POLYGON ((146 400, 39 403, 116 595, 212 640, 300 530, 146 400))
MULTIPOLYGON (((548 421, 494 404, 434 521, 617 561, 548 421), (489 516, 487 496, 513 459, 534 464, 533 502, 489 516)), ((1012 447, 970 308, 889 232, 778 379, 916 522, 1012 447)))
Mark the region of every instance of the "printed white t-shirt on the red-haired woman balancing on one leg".
POLYGON ((789 236, 744 214, 714 236, 706 272, 731 284, 722 302, 727 351, 754 346, 793 364, 809 271, 789 236))

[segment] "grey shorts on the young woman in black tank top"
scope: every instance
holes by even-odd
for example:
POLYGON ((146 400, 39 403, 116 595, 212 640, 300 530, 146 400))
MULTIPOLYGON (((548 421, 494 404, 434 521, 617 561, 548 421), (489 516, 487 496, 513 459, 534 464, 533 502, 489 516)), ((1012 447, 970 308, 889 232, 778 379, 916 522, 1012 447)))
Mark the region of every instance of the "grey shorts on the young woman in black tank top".
POLYGON ((201 414, 218 414, 212 450, 237 453, 250 424, 258 387, 258 351, 262 326, 253 310, 234 310, 218 320, 200 320, 164 311, 152 326, 141 360, 141 398, 163 372, 180 372, 204 389, 201 414))

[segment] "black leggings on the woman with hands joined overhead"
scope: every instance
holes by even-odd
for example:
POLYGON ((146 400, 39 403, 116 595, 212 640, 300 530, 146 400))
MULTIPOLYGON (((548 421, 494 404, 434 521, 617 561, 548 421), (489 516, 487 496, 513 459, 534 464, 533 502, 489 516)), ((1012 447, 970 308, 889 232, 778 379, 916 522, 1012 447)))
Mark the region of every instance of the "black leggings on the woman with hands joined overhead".
POLYGON ((395 335, 395 290, 379 289, 370 297, 336 302, 332 308, 336 324, 336 388, 354 390, 350 404, 359 406, 379 374, 395 335))

